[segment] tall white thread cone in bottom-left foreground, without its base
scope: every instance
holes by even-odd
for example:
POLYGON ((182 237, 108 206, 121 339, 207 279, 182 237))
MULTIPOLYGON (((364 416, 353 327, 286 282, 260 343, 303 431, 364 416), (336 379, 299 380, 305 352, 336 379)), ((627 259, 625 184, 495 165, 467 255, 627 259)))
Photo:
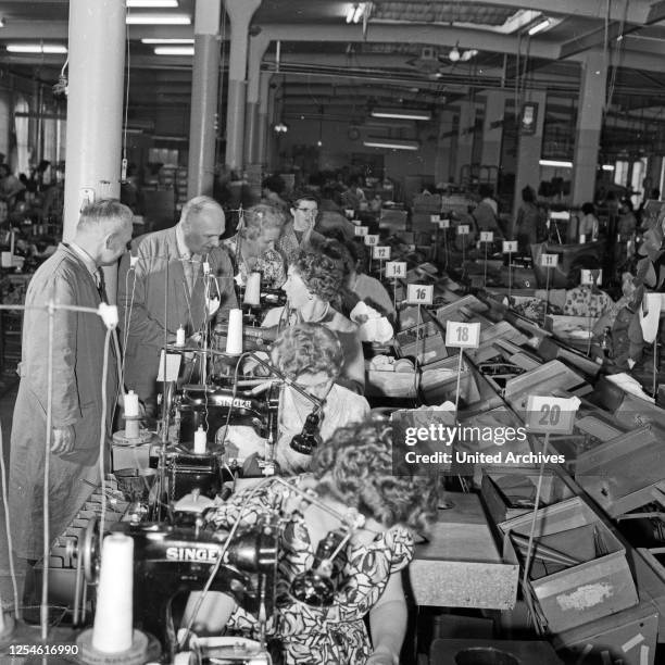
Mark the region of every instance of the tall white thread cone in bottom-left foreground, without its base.
POLYGON ((131 649, 133 598, 134 539, 124 534, 111 534, 103 543, 92 649, 101 653, 131 649))

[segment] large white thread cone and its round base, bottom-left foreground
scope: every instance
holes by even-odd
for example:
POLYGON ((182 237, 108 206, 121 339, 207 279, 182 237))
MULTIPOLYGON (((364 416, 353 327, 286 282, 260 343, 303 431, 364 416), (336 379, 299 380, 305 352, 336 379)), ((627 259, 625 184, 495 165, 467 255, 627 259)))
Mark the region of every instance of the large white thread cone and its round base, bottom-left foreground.
POLYGON ((104 538, 95 625, 78 636, 80 658, 90 665, 141 665, 148 637, 133 628, 134 540, 124 534, 104 538))

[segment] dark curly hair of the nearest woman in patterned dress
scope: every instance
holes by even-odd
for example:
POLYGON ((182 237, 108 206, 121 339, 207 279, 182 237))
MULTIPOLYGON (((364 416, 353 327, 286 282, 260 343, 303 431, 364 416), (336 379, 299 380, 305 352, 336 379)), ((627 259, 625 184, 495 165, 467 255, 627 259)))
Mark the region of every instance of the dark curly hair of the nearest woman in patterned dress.
POLYGON ((387 528, 403 525, 423 534, 436 516, 436 477, 396 474, 386 423, 340 427, 315 450, 311 470, 321 480, 317 491, 387 528))

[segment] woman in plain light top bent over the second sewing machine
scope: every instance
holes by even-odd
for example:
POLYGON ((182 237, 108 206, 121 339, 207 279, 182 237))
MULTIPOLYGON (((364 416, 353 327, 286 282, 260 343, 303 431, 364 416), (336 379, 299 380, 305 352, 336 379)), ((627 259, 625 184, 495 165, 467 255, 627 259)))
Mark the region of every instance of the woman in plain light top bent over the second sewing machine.
MULTIPOLYGON (((275 462, 281 474, 301 473, 309 469, 313 451, 338 427, 362 421, 369 413, 369 404, 335 382, 342 367, 342 348, 323 325, 301 323, 286 328, 273 344, 271 360, 288 381, 278 398, 275 462)), ((251 457, 263 455, 264 440, 251 436, 247 428, 230 427, 225 448, 227 456, 234 450, 244 463, 246 477, 261 476, 251 473, 255 464, 251 457)))

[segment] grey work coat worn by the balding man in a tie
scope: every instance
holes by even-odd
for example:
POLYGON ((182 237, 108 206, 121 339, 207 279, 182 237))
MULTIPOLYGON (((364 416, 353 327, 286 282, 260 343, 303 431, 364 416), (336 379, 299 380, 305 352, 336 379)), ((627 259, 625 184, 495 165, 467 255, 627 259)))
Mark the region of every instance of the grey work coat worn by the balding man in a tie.
MULTIPOLYGON (((136 265, 130 267, 129 256, 125 255, 117 281, 120 325, 126 344, 125 384, 146 401, 156 393, 164 329, 173 341, 178 327, 183 326, 189 337, 208 324, 205 258, 193 256, 183 261, 176 227, 137 238, 131 254, 138 259, 136 265)), ((210 252, 206 259, 210 275, 216 280, 222 296, 216 317, 224 321, 228 318, 228 310, 237 308, 231 262, 221 247, 210 252)), ((209 286, 211 296, 216 296, 216 289, 209 286)))

